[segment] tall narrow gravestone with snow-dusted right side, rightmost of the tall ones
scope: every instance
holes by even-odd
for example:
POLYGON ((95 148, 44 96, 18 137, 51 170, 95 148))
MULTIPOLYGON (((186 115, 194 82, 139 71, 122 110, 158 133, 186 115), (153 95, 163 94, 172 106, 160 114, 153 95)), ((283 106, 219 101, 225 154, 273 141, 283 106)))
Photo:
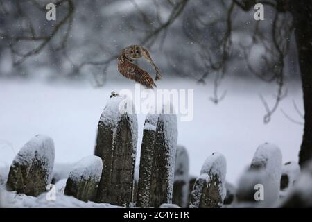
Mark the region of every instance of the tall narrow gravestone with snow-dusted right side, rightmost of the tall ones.
POLYGON ((177 115, 174 114, 173 106, 166 103, 163 106, 162 114, 159 114, 155 131, 149 207, 159 207, 162 203, 171 203, 176 149, 177 115), (168 109, 171 112, 167 112, 168 109))

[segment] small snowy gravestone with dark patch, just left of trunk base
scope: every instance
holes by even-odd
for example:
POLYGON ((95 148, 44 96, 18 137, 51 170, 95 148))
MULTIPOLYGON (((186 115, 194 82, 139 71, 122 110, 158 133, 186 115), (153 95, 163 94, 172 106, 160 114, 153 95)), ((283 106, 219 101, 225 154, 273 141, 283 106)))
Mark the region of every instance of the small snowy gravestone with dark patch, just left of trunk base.
POLYGON ((286 162, 281 169, 281 196, 293 188, 300 176, 300 166, 297 162, 286 162))

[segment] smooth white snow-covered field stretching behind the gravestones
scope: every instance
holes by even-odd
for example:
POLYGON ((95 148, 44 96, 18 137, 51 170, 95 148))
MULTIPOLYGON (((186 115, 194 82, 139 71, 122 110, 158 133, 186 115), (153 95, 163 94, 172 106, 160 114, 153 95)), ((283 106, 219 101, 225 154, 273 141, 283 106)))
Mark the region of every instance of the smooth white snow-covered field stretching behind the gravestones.
MULTIPOLYGON (((162 80, 159 88, 194 89, 193 121, 178 118, 177 143, 189 152, 190 173, 198 176, 205 159, 218 151, 227 160, 226 180, 236 185, 239 176, 252 161, 257 146, 263 142, 281 148, 283 162, 297 161, 302 139, 302 125, 292 123, 281 109, 294 119, 294 99, 302 110, 300 85, 288 84, 288 96, 281 101, 269 124, 263 124, 265 110, 259 94, 272 105, 275 85, 249 84, 227 79, 220 92, 227 90, 224 101, 209 101, 212 85, 198 85, 193 80, 162 80), (293 86, 292 85, 292 86, 293 86)), ((134 90, 130 81, 109 82, 102 88, 80 83, 42 83, 38 81, 0 81, 0 167, 10 166, 24 144, 37 134, 49 135, 55 143, 55 163, 72 164, 92 155, 98 119, 112 91, 134 90)), ((144 114, 138 115, 139 138, 137 164, 141 148, 144 114)), ((7 168, 8 169, 8 168, 7 168)), ((0 173, 8 173, 0 171, 0 173)))

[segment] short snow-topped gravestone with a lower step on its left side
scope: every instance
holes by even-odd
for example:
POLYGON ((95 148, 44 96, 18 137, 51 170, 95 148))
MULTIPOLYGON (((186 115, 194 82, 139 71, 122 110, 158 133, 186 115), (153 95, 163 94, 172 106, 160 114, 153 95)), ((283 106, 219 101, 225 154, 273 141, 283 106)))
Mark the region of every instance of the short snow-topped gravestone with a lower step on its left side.
POLYGON ((191 192, 190 208, 222 207, 226 170, 225 157, 220 153, 213 153, 205 160, 191 192))

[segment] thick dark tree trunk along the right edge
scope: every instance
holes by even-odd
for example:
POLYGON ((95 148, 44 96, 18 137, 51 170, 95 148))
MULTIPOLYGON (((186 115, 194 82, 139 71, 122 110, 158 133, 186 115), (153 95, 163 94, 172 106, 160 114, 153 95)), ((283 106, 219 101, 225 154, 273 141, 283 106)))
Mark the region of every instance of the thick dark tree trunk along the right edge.
POLYGON ((299 153, 302 167, 312 159, 312 3, 304 0, 292 3, 304 100, 304 135, 299 153))

